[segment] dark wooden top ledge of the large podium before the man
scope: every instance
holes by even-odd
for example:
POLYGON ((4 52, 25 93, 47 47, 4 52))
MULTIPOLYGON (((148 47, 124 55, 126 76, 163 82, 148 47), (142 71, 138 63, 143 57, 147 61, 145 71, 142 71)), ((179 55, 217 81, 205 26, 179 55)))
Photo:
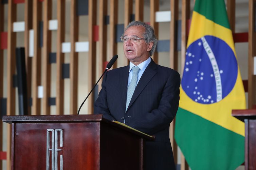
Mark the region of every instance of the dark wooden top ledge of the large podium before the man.
POLYGON ((103 122, 110 126, 131 132, 146 140, 154 140, 154 137, 140 131, 133 130, 121 124, 104 119, 102 114, 96 115, 30 115, 30 116, 3 116, 3 122, 12 123, 79 123, 79 122, 103 122))

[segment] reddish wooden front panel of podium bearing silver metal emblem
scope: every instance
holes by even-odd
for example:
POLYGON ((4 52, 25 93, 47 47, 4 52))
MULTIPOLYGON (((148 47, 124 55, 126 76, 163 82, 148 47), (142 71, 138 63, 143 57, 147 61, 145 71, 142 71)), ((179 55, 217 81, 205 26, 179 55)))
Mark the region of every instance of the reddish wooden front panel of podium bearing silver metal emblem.
POLYGON ((13 124, 13 169, 97 170, 99 126, 100 122, 13 124))

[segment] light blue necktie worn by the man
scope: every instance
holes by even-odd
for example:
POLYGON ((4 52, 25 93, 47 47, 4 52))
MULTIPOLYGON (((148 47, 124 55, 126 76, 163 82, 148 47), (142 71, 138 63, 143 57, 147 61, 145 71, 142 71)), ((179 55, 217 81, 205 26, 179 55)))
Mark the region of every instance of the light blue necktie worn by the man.
POLYGON ((133 67, 132 68, 132 79, 131 79, 131 82, 130 82, 130 84, 128 86, 128 89, 127 89, 127 99, 126 99, 125 112, 127 111, 127 108, 128 108, 129 103, 131 101, 131 97, 132 97, 133 92, 135 90, 139 70, 140 70, 139 67, 133 67))

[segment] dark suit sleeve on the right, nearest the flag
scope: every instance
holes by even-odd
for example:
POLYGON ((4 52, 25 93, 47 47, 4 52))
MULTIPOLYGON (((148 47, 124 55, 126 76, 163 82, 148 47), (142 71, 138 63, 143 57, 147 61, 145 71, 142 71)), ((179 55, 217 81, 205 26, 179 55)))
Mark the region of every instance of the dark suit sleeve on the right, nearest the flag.
POLYGON ((149 135, 168 127, 178 110, 180 100, 179 88, 180 75, 175 71, 166 81, 158 108, 150 113, 140 115, 141 117, 137 117, 127 125, 149 135))

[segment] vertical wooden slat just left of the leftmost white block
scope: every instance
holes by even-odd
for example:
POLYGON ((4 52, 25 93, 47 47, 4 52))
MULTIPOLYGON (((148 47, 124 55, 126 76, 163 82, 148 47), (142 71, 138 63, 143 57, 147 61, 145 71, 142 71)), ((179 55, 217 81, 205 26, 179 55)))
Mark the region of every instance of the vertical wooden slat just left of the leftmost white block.
MULTIPOLYGON (((8 38, 7 38, 7 115, 15 115, 15 88, 13 87, 13 75, 16 72, 16 33, 13 32, 13 22, 16 21, 16 4, 8 1, 8 38)), ((7 125, 7 169, 11 169, 11 125, 7 125)))

